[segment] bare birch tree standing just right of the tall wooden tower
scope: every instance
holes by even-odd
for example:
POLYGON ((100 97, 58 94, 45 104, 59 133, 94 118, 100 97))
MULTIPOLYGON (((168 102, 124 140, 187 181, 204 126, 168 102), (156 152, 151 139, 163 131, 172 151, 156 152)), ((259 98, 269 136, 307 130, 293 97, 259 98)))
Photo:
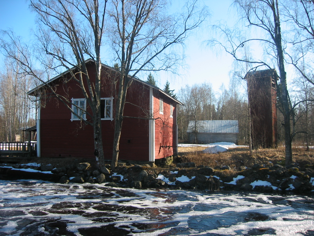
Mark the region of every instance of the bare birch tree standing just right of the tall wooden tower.
MULTIPOLYGON (((289 93, 287 89, 287 75, 285 71, 284 61, 284 46, 281 34, 281 21, 278 0, 235 0, 236 9, 242 14, 243 24, 247 24, 250 29, 261 32, 260 37, 252 37, 247 40, 240 40, 239 37, 234 37, 235 32, 223 26, 216 26, 216 29, 224 35, 226 43, 221 43, 219 40, 210 41, 212 45, 222 46, 226 52, 230 53, 235 60, 254 65, 256 69, 260 66, 266 66, 269 69, 272 67, 278 68, 279 71, 279 87, 277 94, 279 98, 279 110, 283 114, 284 121, 284 141, 285 141, 285 163, 292 163, 292 139, 295 133, 291 132, 291 115, 293 109, 290 103, 289 93), (258 42, 262 47, 266 59, 262 58, 255 60, 247 60, 243 57, 241 49, 245 44, 258 42)), ((243 32, 242 32, 243 33, 243 32)))

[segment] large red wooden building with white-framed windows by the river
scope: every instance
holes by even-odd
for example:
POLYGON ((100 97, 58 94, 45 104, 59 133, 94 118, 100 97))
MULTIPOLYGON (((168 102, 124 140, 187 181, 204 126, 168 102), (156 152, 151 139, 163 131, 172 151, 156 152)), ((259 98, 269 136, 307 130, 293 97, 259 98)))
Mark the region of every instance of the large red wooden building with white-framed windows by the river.
MULTIPOLYGON (((85 64, 89 77, 92 78, 96 73, 95 62, 89 59, 85 64)), ((68 74, 64 72, 48 83, 56 89, 57 94, 72 98, 72 103, 79 103, 89 111, 90 108, 76 82, 73 79, 64 79, 68 74)), ((116 75, 113 68, 102 65, 101 110, 104 114, 101 119, 101 129, 104 155, 107 160, 112 159, 115 86, 117 86, 112 82, 111 76, 114 74, 116 75)), ((57 98, 44 93, 45 87, 46 85, 42 84, 28 92, 41 99, 36 123, 37 155, 95 158, 93 127, 81 122, 57 98)), ((181 103, 158 87, 137 78, 133 78, 126 102, 119 159, 154 161, 176 154, 176 106, 181 103), (149 117, 153 117, 154 120, 149 117)), ((90 117, 86 114, 85 119, 90 120, 90 117)))

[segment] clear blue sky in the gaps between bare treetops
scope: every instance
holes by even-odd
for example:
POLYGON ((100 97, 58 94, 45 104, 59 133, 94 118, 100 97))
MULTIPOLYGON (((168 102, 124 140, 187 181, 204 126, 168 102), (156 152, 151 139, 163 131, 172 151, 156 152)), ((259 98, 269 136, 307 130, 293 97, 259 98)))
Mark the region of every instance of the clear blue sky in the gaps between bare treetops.
MULTIPOLYGON (((180 5, 180 0, 174 1, 176 1, 174 5, 180 5)), ((229 10, 231 1, 204 0, 203 2, 211 11, 208 26, 204 25, 197 35, 187 40, 185 50, 187 67, 185 70, 181 70, 181 76, 165 73, 154 74, 160 88, 164 87, 167 79, 170 81, 171 89, 176 91, 185 84, 192 85, 203 82, 211 83, 215 91, 219 90, 222 83, 228 86, 233 59, 225 52, 216 55, 211 48, 207 47, 205 41, 211 37, 209 25, 218 20, 227 21, 228 24, 234 22, 229 10)), ((0 0, 0 29, 11 28, 17 35, 29 41, 31 29, 35 26, 35 14, 30 11, 28 5, 28 1, 25 0, 0 0)), ((1 55, 0 60, 3 59, 4 57, 1 55)), ((146 78, 140 79, 145 80, 146 78)))

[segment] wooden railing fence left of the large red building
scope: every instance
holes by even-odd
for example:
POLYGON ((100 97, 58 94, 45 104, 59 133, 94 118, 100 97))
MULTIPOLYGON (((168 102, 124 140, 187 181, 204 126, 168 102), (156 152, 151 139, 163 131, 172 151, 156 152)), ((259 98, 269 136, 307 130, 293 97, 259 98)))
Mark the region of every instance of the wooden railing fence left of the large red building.
POLYGON ((19 157, 31 157, 35 156, 37 151, 36 142, 1 142, 0 143, 0 156, 19 156, 19 157))

